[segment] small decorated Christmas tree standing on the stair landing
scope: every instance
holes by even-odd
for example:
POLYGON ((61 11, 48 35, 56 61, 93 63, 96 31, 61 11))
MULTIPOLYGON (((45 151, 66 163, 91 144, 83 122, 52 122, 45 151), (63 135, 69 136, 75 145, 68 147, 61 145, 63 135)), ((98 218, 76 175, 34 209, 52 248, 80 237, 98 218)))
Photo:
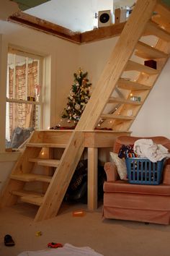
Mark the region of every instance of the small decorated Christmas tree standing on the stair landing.
POLYGON ((68 123, 73 121, 76 124, 89 101, 91 83, 87 79, 87 72, 84 73, 81 69, 73 76, 74 83, 68 95, 68 103, 64 108, 62 118, 68 119, 68 123))

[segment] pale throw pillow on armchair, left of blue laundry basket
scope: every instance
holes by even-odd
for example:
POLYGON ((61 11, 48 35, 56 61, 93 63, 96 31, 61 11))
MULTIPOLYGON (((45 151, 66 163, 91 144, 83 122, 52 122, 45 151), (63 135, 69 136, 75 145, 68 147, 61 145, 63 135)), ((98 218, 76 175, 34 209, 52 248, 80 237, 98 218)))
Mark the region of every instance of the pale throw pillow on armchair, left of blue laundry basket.
POLYGON ((120 176, 120 179, 127 179, 127 168, 125 159, 121 159, 118 157, 116 153, 110 152, 110 162, 115 163, 115 166, 117 167, 117 173, 120 176))

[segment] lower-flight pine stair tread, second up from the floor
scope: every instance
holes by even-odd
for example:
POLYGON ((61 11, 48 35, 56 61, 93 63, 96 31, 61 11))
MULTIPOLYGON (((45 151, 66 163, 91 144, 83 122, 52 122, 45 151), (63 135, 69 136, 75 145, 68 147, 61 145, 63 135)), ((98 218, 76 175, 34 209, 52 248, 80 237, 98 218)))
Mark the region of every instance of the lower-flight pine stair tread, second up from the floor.
POLYGON ((17 179, 23 182, 48 182, 50 183, 52 176, 39 174, 11 174, 11 179, 17 179))

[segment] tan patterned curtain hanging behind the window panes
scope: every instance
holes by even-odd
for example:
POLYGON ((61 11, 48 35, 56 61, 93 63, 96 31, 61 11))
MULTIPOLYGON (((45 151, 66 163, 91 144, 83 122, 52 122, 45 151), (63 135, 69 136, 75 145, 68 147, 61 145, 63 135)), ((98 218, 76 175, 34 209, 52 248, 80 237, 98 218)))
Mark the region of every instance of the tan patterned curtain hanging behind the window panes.
MULTIPOLYGON (((9 98, 27 101, 27 96, 35 97, 37 85, 37 61, 9 67, 9 98)), ((9 103, 9 135, 14 128, 35 127, 36 106, 29 103, 9 103)))

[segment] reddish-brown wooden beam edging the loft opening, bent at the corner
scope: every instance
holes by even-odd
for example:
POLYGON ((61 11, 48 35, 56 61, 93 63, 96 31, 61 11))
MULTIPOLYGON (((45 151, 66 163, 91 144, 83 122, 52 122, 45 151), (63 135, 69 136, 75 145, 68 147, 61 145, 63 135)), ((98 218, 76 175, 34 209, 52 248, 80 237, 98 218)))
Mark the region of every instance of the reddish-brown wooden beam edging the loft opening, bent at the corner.
POLYGON ((100 27, 84 33, 74 33, 66 27, 55 25, 52 22, 42 20, 30 14, 25 14, 24 12, 17 12, 17 14, 13 14, 8 18, 8 21, 32 27, 35 30, 55 35, 73 43, 91 43, 97 40, 112 38, 120 35, 123 27, 125 26, 125 22, 122 22, 107 27, 100 27))

